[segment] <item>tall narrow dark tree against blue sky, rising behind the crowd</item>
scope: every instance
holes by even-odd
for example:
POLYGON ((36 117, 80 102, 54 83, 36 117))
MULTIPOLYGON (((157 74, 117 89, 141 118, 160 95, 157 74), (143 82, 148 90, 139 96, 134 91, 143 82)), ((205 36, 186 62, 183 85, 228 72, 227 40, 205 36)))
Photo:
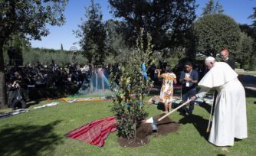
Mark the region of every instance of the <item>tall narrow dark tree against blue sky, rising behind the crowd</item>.
POLYGON ((84 50, 84 55, 90 63, 103 63, 106 57, 105 38, 106 31, 102 22, 100 5, 91 0, 91 5, 86 8, 87 21, 78 25, 80 30, 74 31, 80 37, 79 44, 84 50))

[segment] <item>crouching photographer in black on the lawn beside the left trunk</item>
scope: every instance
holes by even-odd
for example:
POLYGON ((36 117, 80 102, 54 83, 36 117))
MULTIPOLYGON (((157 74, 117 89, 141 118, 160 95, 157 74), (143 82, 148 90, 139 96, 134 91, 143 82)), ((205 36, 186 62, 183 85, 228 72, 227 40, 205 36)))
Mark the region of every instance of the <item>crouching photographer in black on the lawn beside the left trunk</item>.
POLYGON ((16 107, 19 106, 21 106, 22 109, 27 108, 24 93, 21 89, 21 86, 16 81, 14 81, 11 86, 9 86, 8 90, 12 91, 11 97, 8 101, 8 107, 11 107, 12 110, 15 110, 16 107))

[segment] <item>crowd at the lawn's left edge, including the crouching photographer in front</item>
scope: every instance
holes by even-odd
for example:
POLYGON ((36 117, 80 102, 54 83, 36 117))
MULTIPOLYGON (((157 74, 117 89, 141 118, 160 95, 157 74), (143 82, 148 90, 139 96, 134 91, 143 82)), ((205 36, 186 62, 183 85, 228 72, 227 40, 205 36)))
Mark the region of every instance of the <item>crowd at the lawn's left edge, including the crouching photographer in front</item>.
MULTIPOLYGON (((61 67, 54 60, 49 65, 38 62, 36 64, 29 63, 27 66, 6 67, 5 82, 8 93, 11 93, 8 106, 12 109, 25 108, 24 90, 31 87, 81 85, 84 81, 89 83, 90 77, 99 68, 110 75, 110 65, 86 64, 84 67, 80 67, 76 63, 70 63, 61 67)), ((113 71, 118 72, 118 67, 113 66, 113 71)))

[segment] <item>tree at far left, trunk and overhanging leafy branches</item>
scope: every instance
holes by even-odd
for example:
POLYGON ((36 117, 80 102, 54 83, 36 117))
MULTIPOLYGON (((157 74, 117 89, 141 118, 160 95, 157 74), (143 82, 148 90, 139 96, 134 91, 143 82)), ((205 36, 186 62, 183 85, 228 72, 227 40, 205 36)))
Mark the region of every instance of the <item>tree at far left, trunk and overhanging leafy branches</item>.
POLYGON ((64 24, 67 0, 5 0, 0 2, 0 108, 6 107, 3 47, 12 34, 40 40, 49 34, 46 24, 64 24))

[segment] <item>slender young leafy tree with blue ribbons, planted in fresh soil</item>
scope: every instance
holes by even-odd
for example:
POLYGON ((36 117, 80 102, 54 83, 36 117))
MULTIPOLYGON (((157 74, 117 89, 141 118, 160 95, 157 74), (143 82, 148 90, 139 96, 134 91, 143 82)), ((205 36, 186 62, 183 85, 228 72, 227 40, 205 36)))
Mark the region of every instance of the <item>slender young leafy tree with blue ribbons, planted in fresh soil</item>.
POLYGON ((118 75, 111 76, 112 83, 118 79, 120 86, 117 99, 113 100, 111 110, 117 118, 118 135, 123 138, 134 138, 136 126, 147 116, 143 109, 143 103, 150 82, 149 79, 143 79, 141 67, 143 63, 146 63, 146 67, 149 67, 150 54, 153 53, 152 48, 149 34, 147 34, 147 44, 143 41, 142 29, 136 40, 136 49, 128 56, 129 61, 120 64, 118 75))

